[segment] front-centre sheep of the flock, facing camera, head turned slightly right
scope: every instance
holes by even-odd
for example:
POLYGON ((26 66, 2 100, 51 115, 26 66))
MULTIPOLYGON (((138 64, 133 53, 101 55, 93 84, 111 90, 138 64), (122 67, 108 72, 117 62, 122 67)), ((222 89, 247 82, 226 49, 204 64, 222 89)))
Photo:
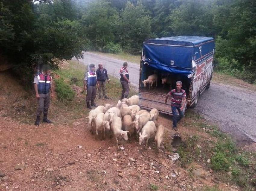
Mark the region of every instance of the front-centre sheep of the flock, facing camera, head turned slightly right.
POLYGON ((126 141, 128 140, 128 136, 127 136, 128 131, 122 130, 122 120, 120 117, 117 117, 117 116, 113 117, 113 121, 111 123, 111 129, 117 141, 117 149, 120 149, 118 145, 118 137, 121 136, 123 137, 124 140, 126 141))

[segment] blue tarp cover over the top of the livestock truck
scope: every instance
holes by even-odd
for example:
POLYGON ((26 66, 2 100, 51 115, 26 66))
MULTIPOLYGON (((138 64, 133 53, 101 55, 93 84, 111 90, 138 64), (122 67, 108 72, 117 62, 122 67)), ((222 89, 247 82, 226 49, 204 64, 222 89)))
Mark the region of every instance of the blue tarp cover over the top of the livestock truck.
POLYGON ((143 60, 158 70, 189 75, 195 62, 214 53, 211 37, 177 36, 148 39, 143 42, 143 60))

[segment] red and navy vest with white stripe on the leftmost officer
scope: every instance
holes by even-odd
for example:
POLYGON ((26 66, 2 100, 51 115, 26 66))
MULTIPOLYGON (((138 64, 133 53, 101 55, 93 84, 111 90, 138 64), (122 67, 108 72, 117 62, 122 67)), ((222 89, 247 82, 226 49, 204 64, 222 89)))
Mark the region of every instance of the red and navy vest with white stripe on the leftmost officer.
POLYGON ((39 73, 36 77, 38 79, 38 93, 48 94, 51 88, 52 76, 49 74, 45 76, 43 73, 39 73))

